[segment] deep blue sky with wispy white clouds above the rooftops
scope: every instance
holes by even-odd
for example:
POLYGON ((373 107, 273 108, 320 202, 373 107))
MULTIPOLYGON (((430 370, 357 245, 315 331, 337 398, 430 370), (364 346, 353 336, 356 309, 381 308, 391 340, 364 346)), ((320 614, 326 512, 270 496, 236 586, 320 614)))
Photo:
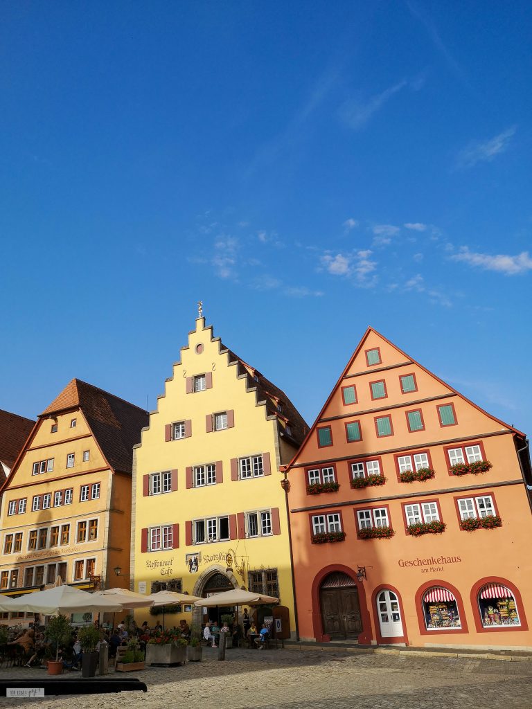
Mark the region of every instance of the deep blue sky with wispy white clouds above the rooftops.
POLYGON ((0 408, 153 408, 201 299, 309 423, 372 325, 531 432, 531 18, 4 2, 0 408))

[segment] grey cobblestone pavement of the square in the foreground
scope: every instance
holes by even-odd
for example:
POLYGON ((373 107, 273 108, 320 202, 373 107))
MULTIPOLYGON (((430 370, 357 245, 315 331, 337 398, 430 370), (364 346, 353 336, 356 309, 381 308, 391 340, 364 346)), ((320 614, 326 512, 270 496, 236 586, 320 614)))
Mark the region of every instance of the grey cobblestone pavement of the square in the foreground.
MULTIPOLYGON (((39 709, 531 709, 532 661, 437 654, 359 654, 299 650, 204 649, 204 660, 148 667, 148 693, 34 700, 0 698, 0 707, 39 709)), ((0 679, 45 678, 40 669, 0 669, 0 679)), ((62 677, 76 674, 67 672, 62 677)), ((79 676, 79 675, 78 675, 79 676)))

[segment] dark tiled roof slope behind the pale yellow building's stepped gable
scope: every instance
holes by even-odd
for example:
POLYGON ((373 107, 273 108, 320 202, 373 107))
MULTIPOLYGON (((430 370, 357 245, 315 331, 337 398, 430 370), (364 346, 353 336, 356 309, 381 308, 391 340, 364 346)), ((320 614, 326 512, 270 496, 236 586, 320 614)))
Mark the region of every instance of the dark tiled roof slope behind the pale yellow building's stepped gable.
POLYGON ((297 408, 294 406, 292 401, 290 401, 284 391, 279 389, 278 386, 275 386, 272 381, 266 379, 265 376, 262 376, 257 369, 245 362, 241 357, 238 357, 238 354, 235 354, 235 352, 229 350, 228 347, 225 347, 221 343, 220 349, 222 352, 224 350, 228 352, 230 364, 231 362, 236 362, 238 367, 238 375, 245 375, 247 377, 248 389, 257 390, 257 402, 265 401, 267 415, 276 416, 287 420, 292 428, 292 439, 298 446, 301 445, 301 442, 304 440, 304 437, 309 430, 309 426, 306 424, 304 418, 301 416, 299 411, 297 411, 297 408), (257 379, 255 379, 255 376, 257 379), (277 411, 277 406, 274 403, 275 399, 281 401, 282 413, 277 411))

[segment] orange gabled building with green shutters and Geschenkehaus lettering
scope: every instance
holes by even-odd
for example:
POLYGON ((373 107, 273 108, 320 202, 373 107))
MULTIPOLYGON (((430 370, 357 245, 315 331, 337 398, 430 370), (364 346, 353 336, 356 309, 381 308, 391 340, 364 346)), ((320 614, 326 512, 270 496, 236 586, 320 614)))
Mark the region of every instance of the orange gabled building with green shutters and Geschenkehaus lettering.
POLYGON ((523 433, 369 328, 285 474, 301 639, 532 649, 523 433))

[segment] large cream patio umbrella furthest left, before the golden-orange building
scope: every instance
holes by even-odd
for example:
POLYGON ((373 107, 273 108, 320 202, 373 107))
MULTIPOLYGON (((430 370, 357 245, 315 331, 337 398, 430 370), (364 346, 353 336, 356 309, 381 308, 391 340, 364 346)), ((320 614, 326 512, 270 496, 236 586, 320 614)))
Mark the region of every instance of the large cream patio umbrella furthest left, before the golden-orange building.
POLYGON ((1 599, 0 609, 18 610, 25 613, 101 613, 105 611, 123 610, 121 603, 96 597, 94 593, 81 591, 74 586, 54 586, 46 591, 26 593, 19 598, 1 599))

